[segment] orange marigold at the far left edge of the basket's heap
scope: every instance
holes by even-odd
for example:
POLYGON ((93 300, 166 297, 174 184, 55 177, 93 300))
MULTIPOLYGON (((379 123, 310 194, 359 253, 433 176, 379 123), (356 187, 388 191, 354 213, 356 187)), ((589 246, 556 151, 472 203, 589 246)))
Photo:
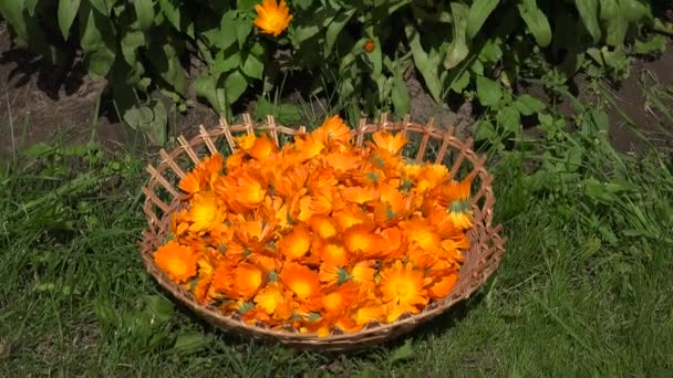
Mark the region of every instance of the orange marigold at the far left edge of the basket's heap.
POLYGON ((154 253, 156 264, 177 283, 185 283, 196 275, 197 256, 191 248, 169 241, 154 253))

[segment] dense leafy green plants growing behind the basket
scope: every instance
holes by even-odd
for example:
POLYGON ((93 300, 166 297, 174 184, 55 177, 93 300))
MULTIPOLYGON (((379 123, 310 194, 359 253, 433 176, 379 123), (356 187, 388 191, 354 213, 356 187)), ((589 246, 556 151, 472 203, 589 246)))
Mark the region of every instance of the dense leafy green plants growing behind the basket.
POLYGON ((494 78, 568 77, 587 56, 623 71, 620 59, 654 24, 643 0, 294 0, 288 31, 273 38, 253 27, 256 4, 0 0, 0 13, 19 44, 54 63, 64 61, 59 43, 76 42, 89 72, 108 80, 122 118, 156 143, 166 136, 159 93, 179 111, 198 96, 227 115, 247 92, 268 93, 283 72, 298 72, 315 78, 312 90, 333 87, 338 104, 406 113, 415 70, 437 103, 453 92, 491 106, 498 92, 484 83, 494 78))

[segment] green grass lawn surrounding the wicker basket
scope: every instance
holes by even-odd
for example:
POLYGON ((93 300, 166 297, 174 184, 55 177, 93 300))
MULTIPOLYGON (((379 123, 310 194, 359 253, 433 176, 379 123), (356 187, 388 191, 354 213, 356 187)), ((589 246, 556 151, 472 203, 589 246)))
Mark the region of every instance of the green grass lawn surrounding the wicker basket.
POLYGON ((0 172, 0 376, 666 376, 672 156, 614 151, 591 112, 491 162, 508 238, 495 277, 411 342, 352 355, 240 339, 175 307, 139 259, 143 159, 23 151, 0 172))

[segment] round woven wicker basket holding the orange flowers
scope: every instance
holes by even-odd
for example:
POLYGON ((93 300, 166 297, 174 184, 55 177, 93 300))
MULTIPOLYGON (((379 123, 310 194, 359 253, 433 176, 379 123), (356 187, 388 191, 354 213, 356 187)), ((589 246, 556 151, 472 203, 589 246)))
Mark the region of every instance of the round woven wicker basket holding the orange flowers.
POLYGON ((498 267, 504 253, 505 240, 499 237, 500 225, 493 227, 493 207, 495 198, 491 190, 491 176, 484 164, 485 158, 478 157, 472 149, 472 139, 462 141, 454 136, 454 128, 436 129, 431 119, 425 125, 416 124, 406 116, 401 123, 389 122, 383 115, 379 123, 369 124, 362 119, 356 129, 353 129, 354 140, 362 146, 365 135, 376 130, 398 130, 404 133, 410 144, 412 140, 418 148, 415 159, 422 161, 426 155, 435 156, 435 162, 444 162, 451 169, 451 177, 459 171, 475 172, 473 186, 472 210, 475 227, 468 232, 470 240, 469 251, 465 252, 465 262, 460 269, 460 276, 452 293, 444 300, 431 303, 420 314, 402 316, 393 324, 370 324, 362 330, 353 334, 332 334, 328 337, 318 337, 311 334, 288 333, 273 330, 263 326, 248 325, 245 322, 225 316, 217 308, 199 304, 191 293, 175 284, 155 264, 153 252, 161 246, 169 231, 169 214, 178 208, 182 193, 176 189, 178 180, 198 164, 199 156, 215 151, 235 150, 234 136, 239 133, 253 133, 266 130, 278 144, 287 136, 306 133, 303 127, 293 129, 277 125, 273 117, 268 117, 266 124, 256 125, 250 115, 244 115, 244 124, 228 125, 224 119, 218 127, 207 130, 199 127, 199 134, 191 140, 178 137, 180 144, 170 153, 161 150, 158 167, 149 165, 149 181, 143 188, 145 195, 144 212, 149 225, 143 231, 141 242, 143 261, 149 274, 176 300, 214 326, 245 336, 275 339, 287 346, 300 349, 343 351, 380 344, 408 333, 418 325, 441 315, 457 302, 469 297, 498 267))

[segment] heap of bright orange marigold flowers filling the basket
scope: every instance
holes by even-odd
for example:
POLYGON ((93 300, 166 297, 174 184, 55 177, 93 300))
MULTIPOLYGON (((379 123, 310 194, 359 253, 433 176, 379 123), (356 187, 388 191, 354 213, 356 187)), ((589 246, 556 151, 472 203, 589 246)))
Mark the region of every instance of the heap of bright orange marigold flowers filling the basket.
POLYGON ((201 304, 276 329, 325 336, 420 313, 458 280, 473 177, 407 162, 401 134, 372 139, 354 146, 339 116, 282 148, 238 137, 179 182, 156 264, 201 304))

